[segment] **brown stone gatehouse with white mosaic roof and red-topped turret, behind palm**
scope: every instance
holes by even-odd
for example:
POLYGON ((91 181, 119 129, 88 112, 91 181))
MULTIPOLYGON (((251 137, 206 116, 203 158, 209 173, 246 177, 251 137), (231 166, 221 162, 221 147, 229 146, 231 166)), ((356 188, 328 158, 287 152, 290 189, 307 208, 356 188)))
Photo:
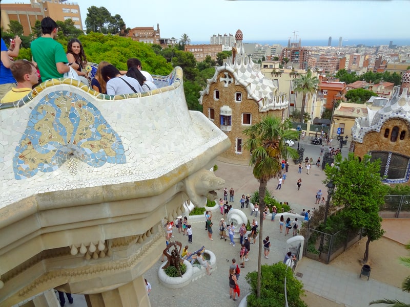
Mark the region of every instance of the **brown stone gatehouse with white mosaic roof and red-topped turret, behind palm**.
POLYGON ((273 114, 285 119, 289 102, 279 93, 273 81, 260 72, 259 65, 245 55, 242 32, 235 35, 232 57, 208 80, 200 92, 203 114, 230 139, 231 147, 219 157, 237 163, 247 163, 250 152, 243 148, 243 130, 273 114))

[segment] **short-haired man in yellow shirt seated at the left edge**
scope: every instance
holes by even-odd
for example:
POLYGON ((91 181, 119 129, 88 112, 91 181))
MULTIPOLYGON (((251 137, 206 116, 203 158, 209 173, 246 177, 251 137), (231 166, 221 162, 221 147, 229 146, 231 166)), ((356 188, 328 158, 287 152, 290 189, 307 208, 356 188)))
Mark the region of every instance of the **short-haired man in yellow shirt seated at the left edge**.
POLYGON ((17 60, 10 67, 17 86, 12 87, 10 91, 0 101, 9 103, 22 99, 32 90, 33 85, 38 83, 37 70, 34 64, 27 60, 17 60))

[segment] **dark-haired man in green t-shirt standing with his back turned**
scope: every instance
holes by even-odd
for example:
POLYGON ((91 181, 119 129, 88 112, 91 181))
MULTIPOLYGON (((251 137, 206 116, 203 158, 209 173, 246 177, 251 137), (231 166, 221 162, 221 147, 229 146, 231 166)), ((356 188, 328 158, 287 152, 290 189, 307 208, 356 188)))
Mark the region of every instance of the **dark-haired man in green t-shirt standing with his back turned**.
POLYGON ((33 60, 37 63, 42 81, 52 78, 62 78, 70 71, 70 66, 76 70, 77 63, 68 63, 66 52, 60 43, 54 40, 57 36, 57 24, 50 17, 42 20, 42 37, 31 43, 33 60))

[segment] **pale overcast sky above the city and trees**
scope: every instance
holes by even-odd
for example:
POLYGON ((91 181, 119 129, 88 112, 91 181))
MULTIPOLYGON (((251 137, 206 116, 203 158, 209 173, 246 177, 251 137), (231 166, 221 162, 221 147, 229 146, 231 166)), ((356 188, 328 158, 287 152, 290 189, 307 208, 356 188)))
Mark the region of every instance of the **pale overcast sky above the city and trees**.
MULTIPOLYGON (((29 0, 2 3, 24 2, 29 0)), ((235 34, 243 39, 337 40, 353 38, 409 38, 410 12, 407 0, 323 0, 323 1, 226 1, 226 0, 77 0, 83 25, 87 8, 106 7, 119 14, 127 27, 152 27, 159 24, 161 37, 178 38, 187 33, 192 41, 209 40, 213 34, 235 34)))

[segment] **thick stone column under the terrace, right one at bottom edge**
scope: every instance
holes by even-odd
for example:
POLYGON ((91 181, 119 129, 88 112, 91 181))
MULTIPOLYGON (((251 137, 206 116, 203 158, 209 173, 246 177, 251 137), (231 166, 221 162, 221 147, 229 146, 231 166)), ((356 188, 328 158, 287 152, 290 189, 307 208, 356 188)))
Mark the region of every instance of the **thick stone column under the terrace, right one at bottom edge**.
POLYGON ((85 297, 88 307, 151 307, 142 276, 117 289, 89 294, 85 297))

